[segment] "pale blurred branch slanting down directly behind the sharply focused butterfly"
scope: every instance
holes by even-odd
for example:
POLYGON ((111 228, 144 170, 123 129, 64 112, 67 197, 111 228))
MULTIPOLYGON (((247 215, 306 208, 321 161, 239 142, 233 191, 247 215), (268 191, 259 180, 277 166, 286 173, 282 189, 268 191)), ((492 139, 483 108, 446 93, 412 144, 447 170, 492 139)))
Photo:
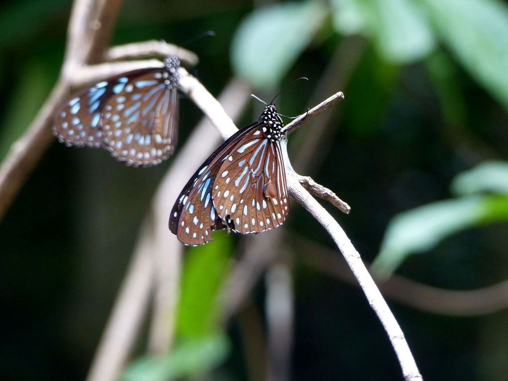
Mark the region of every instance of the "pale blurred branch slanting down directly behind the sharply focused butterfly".
MULTIPOLYGON (((185 83, 196 86, 194 81, 185 83)), ((185 84, 182 85, 182 91, 189 93, 191 89, 185 86, 185 84)), ((195 96, 199 97, 199 92, 197 94, 195 96)), ((236 120, 242 115, 249 101, 249 94, 249 86, 244 82, 233 79, 223 90, 219 102, 224 105, 228 114, 236 120)), ((233 124, 233 121, 229 120, 233 124)), ((155 259, 157 277, 154 313, 148 344, 151 352, 161 353, 169 350, 176 315, 175 308, 183 246, 176 236, 168 231, 168 213, 173 207, 180 189, 188 180, 189 168, 198 168, 216 147, 219 140, 220 137, 209 120, 203 119, 175 157, 171 169, 158 186, 152 201, 149 217, 152 218, 154 226, 152 255, 155 259)), ((140 239, 143 240, 143 237, 140 237, 140 239)))

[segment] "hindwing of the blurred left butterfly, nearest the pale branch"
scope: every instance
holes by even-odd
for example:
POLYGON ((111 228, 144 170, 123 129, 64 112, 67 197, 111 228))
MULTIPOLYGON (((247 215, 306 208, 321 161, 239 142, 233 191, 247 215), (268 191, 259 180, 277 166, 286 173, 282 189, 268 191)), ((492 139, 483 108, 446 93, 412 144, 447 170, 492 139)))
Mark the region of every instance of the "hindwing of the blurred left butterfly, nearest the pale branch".
POLYGON ((177 140, 178 93, 167 71, 145 70, 119 78, 101 125, 108 149, 120 161, 147 166, 168 158, 177 140))

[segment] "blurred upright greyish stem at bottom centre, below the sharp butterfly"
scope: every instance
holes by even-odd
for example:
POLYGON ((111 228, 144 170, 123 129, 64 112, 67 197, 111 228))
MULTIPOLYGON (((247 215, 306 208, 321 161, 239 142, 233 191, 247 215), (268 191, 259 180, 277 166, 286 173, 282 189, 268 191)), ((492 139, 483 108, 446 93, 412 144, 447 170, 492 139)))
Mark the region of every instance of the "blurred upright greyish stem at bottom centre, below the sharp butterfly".
POLYGON ((289 263, 278 260, 266 274, 266 321, 268 332, 267 376, 269 381, 291 379, 294 297, 289 263))

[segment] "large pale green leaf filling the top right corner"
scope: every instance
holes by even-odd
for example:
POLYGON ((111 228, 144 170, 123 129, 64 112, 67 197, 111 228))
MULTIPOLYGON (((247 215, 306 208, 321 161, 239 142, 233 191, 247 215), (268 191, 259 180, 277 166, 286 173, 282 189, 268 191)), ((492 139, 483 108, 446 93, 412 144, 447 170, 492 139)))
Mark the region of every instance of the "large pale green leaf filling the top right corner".
POLYGON ((508 7, 494 0, 424 0, 464 68, 508 107, 508 7))

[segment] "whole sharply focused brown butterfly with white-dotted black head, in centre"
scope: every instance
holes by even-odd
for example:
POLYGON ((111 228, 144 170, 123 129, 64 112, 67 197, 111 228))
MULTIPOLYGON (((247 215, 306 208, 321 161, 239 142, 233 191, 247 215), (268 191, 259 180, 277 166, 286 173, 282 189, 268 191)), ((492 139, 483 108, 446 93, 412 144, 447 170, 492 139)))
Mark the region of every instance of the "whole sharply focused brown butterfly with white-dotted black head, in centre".
POLYGON ((212 231, 260 233, 278 227, 289 212, 280 139, 285 136, 275 105, 259 120, 221 144, 178 197, 169 229, 180 242, 201 245, 212 231))

